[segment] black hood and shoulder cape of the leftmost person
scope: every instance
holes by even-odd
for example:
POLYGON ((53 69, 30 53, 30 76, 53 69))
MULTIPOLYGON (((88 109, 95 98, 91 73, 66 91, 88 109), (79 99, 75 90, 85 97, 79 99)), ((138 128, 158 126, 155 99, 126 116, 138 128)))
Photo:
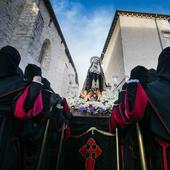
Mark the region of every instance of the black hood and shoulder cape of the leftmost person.
POLYGON ((18 75, 21 57, 17 49, 5 46, 0 49, 0 96, 23 87, 18 75))

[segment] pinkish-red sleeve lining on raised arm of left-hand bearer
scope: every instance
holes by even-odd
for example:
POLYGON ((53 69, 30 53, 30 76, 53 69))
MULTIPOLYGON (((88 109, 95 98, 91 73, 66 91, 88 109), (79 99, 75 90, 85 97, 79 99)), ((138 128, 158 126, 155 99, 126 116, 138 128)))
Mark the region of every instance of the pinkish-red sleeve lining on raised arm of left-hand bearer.
POLYGON ((42 92, 40 91, 34 106, 32 109, 30 109, 27 113, 24 111, 24 103, 28 96, 30 86, 28 86, 24 93, 19 97, 16 103, 15 107, 15 116, 19 119, 26 119, 26 118, 32 118, 37 116, 40 112, 43 110, 43 100, 42 100, 42 92))

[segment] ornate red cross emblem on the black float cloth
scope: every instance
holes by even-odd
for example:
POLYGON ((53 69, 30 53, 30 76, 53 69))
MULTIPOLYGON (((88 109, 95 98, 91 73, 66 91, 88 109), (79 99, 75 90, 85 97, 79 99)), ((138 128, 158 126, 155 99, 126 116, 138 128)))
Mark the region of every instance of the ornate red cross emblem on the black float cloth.
POLYGON ((93 138, 90 138, 87 141, 87 144, 80 148, 79 152, 82 157, 86 158, 86 170, 94 170, 95 159, 102 154, 102 150, 96 144, 96 141, 93 138))

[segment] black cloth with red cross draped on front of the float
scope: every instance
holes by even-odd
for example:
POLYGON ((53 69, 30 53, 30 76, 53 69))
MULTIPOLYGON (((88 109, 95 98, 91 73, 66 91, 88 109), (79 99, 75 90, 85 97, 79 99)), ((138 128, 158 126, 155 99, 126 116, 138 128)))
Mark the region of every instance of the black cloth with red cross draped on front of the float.
POLYGON ((115 136, 105 133, 107 121, 107 118, 73 117, 71 137, 64 143, 64 170, 116 169, 115 136), (101 131, 88 132, 91 127, 101 131))

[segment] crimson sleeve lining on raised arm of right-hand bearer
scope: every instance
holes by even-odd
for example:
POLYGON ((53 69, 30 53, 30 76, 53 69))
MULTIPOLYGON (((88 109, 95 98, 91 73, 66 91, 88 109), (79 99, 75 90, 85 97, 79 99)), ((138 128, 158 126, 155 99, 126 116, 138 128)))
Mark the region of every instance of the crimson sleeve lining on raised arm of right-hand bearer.
POLYGON ((133 110, 129 111, 129 100, 128 100, 128 91, 125 94, 125 115, 130 122, 136 122, 143 118, 145 108, 148 102, 148 97, 141 84, 138 83, 135 103, 133 110))

